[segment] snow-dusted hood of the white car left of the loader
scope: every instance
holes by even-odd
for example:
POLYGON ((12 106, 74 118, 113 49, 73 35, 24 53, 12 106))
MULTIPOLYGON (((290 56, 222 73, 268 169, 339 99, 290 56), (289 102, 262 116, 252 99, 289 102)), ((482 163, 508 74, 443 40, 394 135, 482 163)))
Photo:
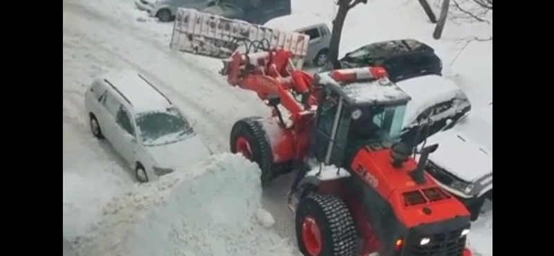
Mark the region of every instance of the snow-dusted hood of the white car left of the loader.
POLYGON ((210 149, 198 135, 176 143, 145 147, 145 149, 159 165, 157 167, 173 170, 199 163, 211 155, 210 149))

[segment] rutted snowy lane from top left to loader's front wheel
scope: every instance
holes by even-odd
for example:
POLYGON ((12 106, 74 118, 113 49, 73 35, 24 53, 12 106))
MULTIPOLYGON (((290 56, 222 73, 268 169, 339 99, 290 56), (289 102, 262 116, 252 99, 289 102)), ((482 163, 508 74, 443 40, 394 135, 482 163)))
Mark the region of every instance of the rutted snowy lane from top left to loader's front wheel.
MULTIPOLYGON (((74 1, 64 2, 64 15, 66 14, 73 14, 73 16, 78 16, 73 19, 80 19, 78 21, 79 28, 84 28, 84 30, 75 31, 75 33, 80 34, 82 40, 96 44, 98 48, 124 60, 132 68, 159 82, 160 89, 171 98, 175 98, 178 101, 176 103, 182 102, 186 106, 184 110, 188 116, 197 120, 199 132, 206 136, 210 144, 219 149, 217 151, 228 150, 227 134, 229 134, 233 122, 243 117, 241 113, 258 115, 267 113, 251 107, 249 104, 252 100, 251 95, 231 88, 223 80, 216 79, 213 74, 208 74, 204 68, 186 62, 179 53, 170 51, 168 47, 162 48, 156 40, 140 33, 134 33, 137 28, 132 25, 106 17, 92 8, 87 8, 87 6, 74 1), (94 28, 94 24, 102 24, 105 25, 102 28, 109 29, 98 31, 98 28, 94 28), (97 31, 93 31, 95 29, 97 31), (112 43, 114 42, 114 33, 120 39, 118 44, 112 43), (129 44, 125 45, 124 42, 129 42, 129 44), (152 53, 152 49, 157 51, 152 53), (183 84, 183 86, 177 84, 183 84), (235 93, 240 93, 240 97, 235 93), (223 97, 223 99, 229 104, 218 101, 225 95, 227 97, 223 97)), ((73 28, 69 27, 69 29, 75 30, 74 26, 73 28)), ((256 104, 260 104, 257 99, 256 104)))

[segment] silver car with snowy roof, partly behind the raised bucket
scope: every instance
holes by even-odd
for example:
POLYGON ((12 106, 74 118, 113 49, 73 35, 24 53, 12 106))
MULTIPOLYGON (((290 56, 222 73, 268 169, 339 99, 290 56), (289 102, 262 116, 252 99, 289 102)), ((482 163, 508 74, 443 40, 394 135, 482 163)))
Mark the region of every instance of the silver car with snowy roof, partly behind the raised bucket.
POLYGON ((331 31, 329 26, 316 15, 293 14, 271 19, 264 24, 269 28, 292 30, 310 36, 305 60, 314 66, 325 66, 328 62, 331 31))

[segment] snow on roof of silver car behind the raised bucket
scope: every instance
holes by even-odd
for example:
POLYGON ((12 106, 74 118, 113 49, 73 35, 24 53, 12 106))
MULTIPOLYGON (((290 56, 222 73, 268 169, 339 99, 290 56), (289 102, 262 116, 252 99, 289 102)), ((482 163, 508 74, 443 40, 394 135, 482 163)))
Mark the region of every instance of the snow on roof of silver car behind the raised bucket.
POLYGON ((299 30, 317 24, 326 24, 330 27, 328 23, 327 19, 319 15, 301 12, 270 19, 264 26, 281 30, 299 30))

